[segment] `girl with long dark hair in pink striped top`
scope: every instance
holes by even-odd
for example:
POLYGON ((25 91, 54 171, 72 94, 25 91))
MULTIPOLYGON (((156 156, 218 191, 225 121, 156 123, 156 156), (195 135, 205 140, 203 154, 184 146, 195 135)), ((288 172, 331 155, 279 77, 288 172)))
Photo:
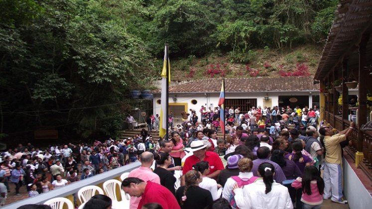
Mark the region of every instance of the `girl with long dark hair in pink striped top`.
POLYGON ((301 202, 304 209, 320 209, 323 203, 324 181, 318 169, 307 166, 302 178, 298 177, 293 183, 295 189, 302 188, 301 202))

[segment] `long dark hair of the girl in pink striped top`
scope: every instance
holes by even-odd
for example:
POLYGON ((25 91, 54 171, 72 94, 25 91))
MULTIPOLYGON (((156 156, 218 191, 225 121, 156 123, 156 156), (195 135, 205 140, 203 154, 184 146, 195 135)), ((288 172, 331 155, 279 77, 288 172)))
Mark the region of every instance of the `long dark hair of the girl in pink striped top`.
POLYGON ((311 195, 311 181, 315 180, 318 186, 319 194, 324 193, 324 181, 320 173, 314 166, 307 166, 302 175, 302 192, 311 195))

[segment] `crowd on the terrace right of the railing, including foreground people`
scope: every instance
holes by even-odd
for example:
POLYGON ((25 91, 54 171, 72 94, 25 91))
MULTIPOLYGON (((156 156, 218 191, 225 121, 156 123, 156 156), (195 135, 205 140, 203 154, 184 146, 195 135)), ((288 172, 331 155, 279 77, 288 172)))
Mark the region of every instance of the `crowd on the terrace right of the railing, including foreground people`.
POLYGON ((354 123, 336 134, 322 121, 318 125, 316 107, 296 107, 294 114, 290 111, 284 109, 284 117, 280 113, 279 125, 274 124, 274 128, 270 110, 264 116, 256 115, 251 128, 242 125, 245 117, 241 120, 235 117, 234 123, 240 125, 228 134, 227 140, 218 138, 218 126, 207 126, 208 123, 187 121, 177 126, 178 131, 170 127, 170 140, 160 139, 159 149, 142 153, 141 167, 123 181, 124 191, 135 197, 130 200, 130 208, 140 209, 153 202, 163 208, 182 209, 208 208, 214 204, 241 209, 319 209, 323 199, 347 204, 340 178, 342 147, 349 143, 347 137, 354 123), (310 114, 310 119, 297 125, 298 112, 302 118, 310 114), (269 127, 258 124, 256 119, 262 117, 269 127), (152 161, 156 162, 154 171, 152 161), (182 173, 177 189, 175 170, 182 173))

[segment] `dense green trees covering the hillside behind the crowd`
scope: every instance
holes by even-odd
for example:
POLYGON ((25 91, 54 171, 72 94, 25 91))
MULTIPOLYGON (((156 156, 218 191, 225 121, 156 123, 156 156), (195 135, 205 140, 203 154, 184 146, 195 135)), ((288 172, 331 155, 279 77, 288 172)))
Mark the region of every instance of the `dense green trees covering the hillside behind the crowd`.
POLYGON ((172 57, 326 38, 338 0, 0 0, 0 136, 40 126, 115 135, 132 86, 172 57), (145 73, 143 73, 145 72, 145 73))

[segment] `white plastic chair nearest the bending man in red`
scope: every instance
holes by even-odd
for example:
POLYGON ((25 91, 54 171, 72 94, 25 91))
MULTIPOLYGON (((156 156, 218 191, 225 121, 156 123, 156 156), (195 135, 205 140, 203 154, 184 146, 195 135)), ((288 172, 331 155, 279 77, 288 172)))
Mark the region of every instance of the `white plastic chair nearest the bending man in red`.
POLYGON ((121 188, 122 183, 116 179, 107 180, 103 184, 105 193, 113 201, 113 209, 129 209, 130 196, 125 194, 124 190, 121 188), (116 188, 119 187, 120 194, 122 196, 122 201, 118 201, 118 196, 116 194, 116 188))

